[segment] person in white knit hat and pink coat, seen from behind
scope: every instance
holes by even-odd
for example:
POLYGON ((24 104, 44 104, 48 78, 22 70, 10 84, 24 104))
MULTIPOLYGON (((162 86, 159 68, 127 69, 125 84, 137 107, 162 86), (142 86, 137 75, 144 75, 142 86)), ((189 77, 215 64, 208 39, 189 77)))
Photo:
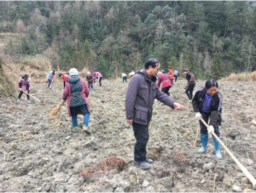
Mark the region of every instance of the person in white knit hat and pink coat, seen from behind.
POLYGON ((91 134, 88 130, 89 124, 89 88, 83 79, 80 79, 78 70, 72 68, 69 70, 69 78, 66 80, 66 87, 62 95, 63 102, 67 100, 67 110, 69 117, 71 116, 73 132, 78 132, 77 115, 82 114, 83 131, 86 134, 91 134))

